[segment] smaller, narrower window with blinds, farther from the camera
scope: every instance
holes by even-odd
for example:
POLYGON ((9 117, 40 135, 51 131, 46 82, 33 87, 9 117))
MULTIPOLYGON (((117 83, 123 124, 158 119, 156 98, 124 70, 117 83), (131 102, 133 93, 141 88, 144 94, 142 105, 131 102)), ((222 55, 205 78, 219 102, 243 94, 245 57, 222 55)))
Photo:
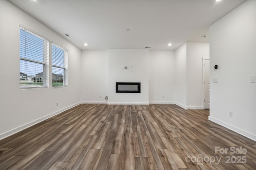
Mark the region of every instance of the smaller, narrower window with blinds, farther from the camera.
POLYGON ((52 44, 52 86, 68 85, 68 51, 52 44))

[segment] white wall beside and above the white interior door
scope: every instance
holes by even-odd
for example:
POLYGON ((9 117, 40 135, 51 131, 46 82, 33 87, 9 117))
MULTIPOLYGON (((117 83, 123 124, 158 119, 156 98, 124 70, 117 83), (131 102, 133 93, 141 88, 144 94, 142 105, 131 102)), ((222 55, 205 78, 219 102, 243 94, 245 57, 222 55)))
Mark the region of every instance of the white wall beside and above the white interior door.
POLYGON ((204 109, 202 58, 209 55, 209 43, 187 43, 187 109, 204 109))

